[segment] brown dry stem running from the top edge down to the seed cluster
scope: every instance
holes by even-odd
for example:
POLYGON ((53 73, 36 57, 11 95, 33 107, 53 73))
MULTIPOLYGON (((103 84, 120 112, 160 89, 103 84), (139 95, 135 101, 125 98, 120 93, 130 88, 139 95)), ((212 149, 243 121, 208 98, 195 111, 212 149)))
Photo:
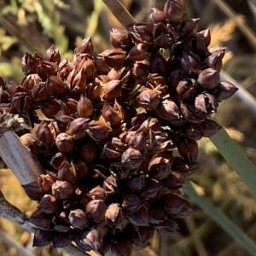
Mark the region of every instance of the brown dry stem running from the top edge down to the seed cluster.
POLYGON ((107 6, 108 9, 113 13, 113 15, 119 20, 119 22, 127 28, 131 26, 136 21, 133 19, 131 14, 125 9, 122 3, 118 0, 102 0, 107 6))

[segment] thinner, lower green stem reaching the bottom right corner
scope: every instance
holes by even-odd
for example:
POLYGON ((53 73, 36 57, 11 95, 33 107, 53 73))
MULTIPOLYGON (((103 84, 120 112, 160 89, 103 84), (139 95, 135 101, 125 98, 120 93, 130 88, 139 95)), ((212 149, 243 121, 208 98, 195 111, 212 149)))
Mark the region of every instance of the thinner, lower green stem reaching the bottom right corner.
POLYGON ((234 224, 230 218, 224 215, 223 212, 218 210, 216 207, 213 207, 211 203, 207 201, 207 199, 201 195, 198 195, 195 192, 195 189, 192 187, 190 183, 187 183, 183 188, 183 191, 186 195, 191 198, 192 201, 201 207, 201 209, 206 212, 218 225, 225 230, 231 237, 233 237, 237 243, 243 247, 247 253, 251 255, 256 255, 256 244, 253 240, 247 236, 240 228, 234 224))

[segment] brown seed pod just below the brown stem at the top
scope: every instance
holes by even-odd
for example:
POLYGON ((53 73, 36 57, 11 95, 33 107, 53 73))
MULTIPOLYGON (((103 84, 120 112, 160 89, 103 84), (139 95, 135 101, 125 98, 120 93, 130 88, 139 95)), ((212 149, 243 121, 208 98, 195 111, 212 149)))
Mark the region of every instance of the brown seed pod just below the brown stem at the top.
POLYGON ((132 40, 128 32, 123 29, 113 28, 110 31, 110 43, 116 49, 131 49, 132 40))

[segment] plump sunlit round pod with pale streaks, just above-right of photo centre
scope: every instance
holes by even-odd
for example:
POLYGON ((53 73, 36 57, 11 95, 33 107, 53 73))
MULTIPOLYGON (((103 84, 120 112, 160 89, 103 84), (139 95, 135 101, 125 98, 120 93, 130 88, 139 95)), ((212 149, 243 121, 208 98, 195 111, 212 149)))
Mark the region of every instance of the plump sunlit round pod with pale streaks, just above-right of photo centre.
POLYGON ((157 108, 160 102, 158 93, 155 90, 146 89, 139 95, 139 103, 146 110, 150 111, 157 108))

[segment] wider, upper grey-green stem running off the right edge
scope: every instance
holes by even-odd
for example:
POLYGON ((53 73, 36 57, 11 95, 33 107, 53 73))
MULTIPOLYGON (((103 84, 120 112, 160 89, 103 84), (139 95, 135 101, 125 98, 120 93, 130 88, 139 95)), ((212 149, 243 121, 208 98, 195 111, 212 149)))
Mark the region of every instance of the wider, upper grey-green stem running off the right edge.
MULTIPOLYGON (((217 121, 217 119, 214 119, 217 121)), ((220 154, 230 164, 230 166, 237 172, 247 187, 256 197, 256 168, 247 159, 247 156, 241 151, 234 140, 223 129, 212 136, 212 143, 218 148, 220 154)))

